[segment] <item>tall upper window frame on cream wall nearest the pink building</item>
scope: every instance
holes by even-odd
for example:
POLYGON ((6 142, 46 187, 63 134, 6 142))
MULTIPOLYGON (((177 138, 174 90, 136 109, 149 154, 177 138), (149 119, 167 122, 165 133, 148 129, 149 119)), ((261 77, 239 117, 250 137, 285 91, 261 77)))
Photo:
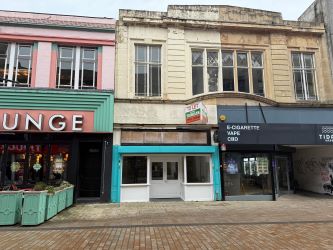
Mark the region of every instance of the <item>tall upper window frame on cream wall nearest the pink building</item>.
POLYGON ((162 88, 162 79, 163 79, 163 72, 162 72, 162 60, 163 60, 163 45, 162 44, 146 44, 146 43, 134 43, 134 97, 136 98, 161 98, 162 97, 162 92, 163 92, 163 88, 162 88), (142 46, 142 47, 146 47, 146 61, 145 62, 141 62, 141 61, 137 61, 137 57, 136 57, 136 47, 137 46, 142 46), (156 62, 150 62, 149 61, 149 55, 150 55, 150 47, 159 47, 160 49, 160 62, 159 63, 156 63, 156 62), (137 87, 136 87, 136 66, 137 65, 145 65, 146 66, 146 74, 147 74, 147 94, 146 95, 138 95, 137 93, 137 87), (149 74, 149 65, 158 65, 160 67, 160 70, 161 70, 161 74, 160 74, 160 94, 159 95, 150 95, 150 86, 149 86, 149 82, 150 82, 150 74, 149 74))

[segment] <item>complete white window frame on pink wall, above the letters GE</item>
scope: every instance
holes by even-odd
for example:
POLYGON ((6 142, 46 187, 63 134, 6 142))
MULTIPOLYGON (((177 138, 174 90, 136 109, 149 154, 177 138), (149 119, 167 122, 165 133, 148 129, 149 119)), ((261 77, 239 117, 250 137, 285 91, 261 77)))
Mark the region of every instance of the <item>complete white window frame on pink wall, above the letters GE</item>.
POLYGON ((96 89, 97 88, 97 77, 96 71, 98 66, 98 48, 96 47, 83 47, 83 46, 59 46, 58 47, 58 58, 57 58, 57 88, 68 88, 68 89, 96 89), (72 57, 62 58, 61 50, 64 48, 72 48, 72 57), (85 86, 83 84, 83 66, 84 62, 87 62, 87 58, 84 58, 85 50, 93 50, 95 53, 94 59, 89 59, 89 62, 94 63, 94 77, 93 86, 85 86), (70 85, 60 85, 60 75, 61 75, 61 60, 71 61, 71 84, 70 85), (81 76, 80 76, 81 73, 81 76))

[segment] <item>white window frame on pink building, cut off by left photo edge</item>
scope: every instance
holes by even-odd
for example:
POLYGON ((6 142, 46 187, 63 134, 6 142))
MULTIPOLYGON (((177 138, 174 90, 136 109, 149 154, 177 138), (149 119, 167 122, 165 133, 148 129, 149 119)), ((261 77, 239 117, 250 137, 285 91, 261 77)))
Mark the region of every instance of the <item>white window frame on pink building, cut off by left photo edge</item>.
MULTIPOLYGON (((9 53, 7 52, 7 58, 5 60, 5 71, 7 71, 7 83, 6 80, 2 81, 2 86, 5 87, 30 87, 31 86, 31 74, 32 74, 32 55, 33 55, 33 44, 29 43, 15 43, 15 42, 3 42, 8 44, 9 53), (30 47, 30 55, 20 55, 20 47, 30 47), (17 82, 17 74, 18 74, 18 60, 20 58, 29 60, 29 68, 28 68, 28 81, 27 83, 18 83, 17 82), (8 64, 8 68, 7 68, 8 64)), ((5 75, 1 76, 5 77, 5 75)))

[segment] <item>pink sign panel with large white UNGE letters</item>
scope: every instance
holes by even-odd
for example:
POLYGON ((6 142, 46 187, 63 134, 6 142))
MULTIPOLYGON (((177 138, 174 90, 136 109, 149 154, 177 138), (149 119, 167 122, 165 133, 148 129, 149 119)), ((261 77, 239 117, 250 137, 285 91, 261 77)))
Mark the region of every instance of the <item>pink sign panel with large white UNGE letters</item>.
POLYGON ((0 110, 0 131, 91 132, 93 112, 0 110))

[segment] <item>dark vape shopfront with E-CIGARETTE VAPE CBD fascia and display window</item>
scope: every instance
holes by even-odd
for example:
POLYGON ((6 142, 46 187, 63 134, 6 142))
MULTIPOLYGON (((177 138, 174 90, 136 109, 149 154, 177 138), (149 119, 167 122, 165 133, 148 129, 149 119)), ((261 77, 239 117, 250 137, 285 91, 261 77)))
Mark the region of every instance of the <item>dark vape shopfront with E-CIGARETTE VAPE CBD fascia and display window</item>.
POLYGON ((225 118, 219 121, 218 129, 224 200, 276 200, 284 193, 293 193, 298 185, 295 152, 333 144, 333 126, 327 117, 321 121, 324 124, 318 124, 317 119, 317 124, 302 120, 308 116, 308 122, 314 122, 314 117, 321 117, 318 113, 327 109, 251 108, 252 113, 244 107, 218 109, 218 117, 225 118))

